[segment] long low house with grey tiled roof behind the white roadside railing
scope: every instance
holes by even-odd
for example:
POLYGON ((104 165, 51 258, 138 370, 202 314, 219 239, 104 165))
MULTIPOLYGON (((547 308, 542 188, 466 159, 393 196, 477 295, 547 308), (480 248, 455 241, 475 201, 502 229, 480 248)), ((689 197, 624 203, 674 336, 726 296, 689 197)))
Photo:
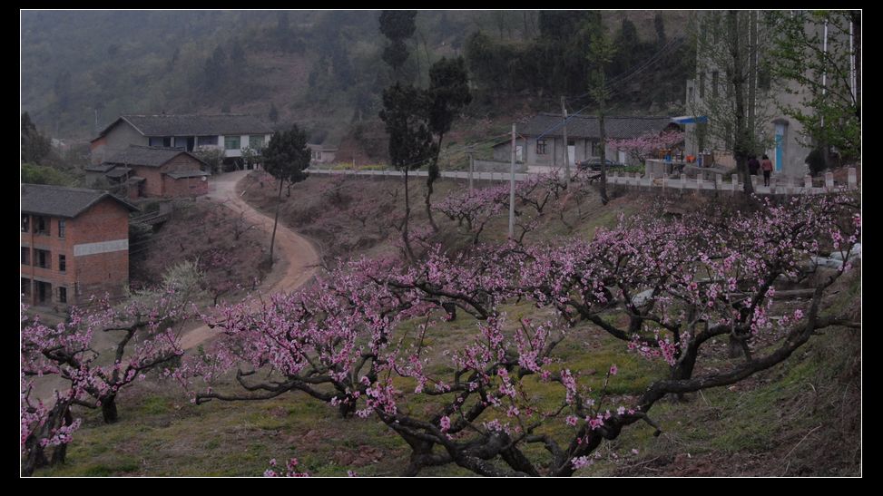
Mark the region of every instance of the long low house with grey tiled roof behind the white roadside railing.
MULTIPOLYGON (((564 126, 560 113, 539 113, 525 124, 519 124, 515 136, 515 160, 527 165, 564 166, 564 126), (526 153, 525 153, 526 151, 526 153)), ((670 117, 609 116, 604 117, 604 131, 608 140, 625 140, 652 132, 678 130, 680 126, 670 117)), ((581 160, 601 156, 601 126, 591 115, 572 115, 567 120, 567 148, 571 165, 581 160)), ((494 145, 494 160, 508 162, 512 143, 500 141, 494 145)), ((607 159, 629 163, 625 151, 606 145, 607 159)))

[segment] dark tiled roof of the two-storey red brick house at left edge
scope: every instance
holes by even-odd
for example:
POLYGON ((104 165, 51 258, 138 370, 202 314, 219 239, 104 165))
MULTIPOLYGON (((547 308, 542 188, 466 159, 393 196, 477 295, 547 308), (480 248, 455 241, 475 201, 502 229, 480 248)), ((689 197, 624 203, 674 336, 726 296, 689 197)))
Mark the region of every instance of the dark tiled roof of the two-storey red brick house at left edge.
POLYGON ((124 208, 135 211, 138 208, 107 191, 64 188, 44 184, 22 185, 22 213, 49 215, 73 219, 99 201, 110 198, 124 208))

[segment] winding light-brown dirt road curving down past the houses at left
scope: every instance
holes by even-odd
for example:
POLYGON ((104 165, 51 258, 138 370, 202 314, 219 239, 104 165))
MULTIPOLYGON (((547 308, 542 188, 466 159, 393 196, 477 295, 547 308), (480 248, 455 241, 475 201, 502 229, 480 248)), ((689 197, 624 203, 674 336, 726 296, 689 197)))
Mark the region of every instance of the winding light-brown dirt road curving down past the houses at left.
MULTIPOLYGON (((208 198, 223 203, 237 212, 237 215, 244 212, 246 221, 265 231, 269 242, 273 219, 251 207, 236 193, 236 184, 249 172, 250 170, 237 170, 212 178, 208 198)), ((261 283, 259 290, 262 293, 293 291, 306 284, 319 267, 319 252, 313 244, 281 222, 276 229, 274 251, 278 261, 270 275, 261 283)), ((181 345, 184 350, 190 350, 214 336, 218 336, 217 331, 212 331, 209 326, 198 326, 182 334, 181 345)))

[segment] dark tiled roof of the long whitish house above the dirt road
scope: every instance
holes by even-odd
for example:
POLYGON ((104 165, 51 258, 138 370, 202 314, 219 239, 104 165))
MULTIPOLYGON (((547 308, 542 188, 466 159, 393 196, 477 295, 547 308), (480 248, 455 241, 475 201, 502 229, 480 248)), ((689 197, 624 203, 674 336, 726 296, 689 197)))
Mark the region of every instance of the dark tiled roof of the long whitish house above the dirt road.
POLYGON ((270 126, 252 115, 123 115, 104 128, 107 134, 121 120, 132 124, 144 136, 212 136, 220 134, 270 134, 270 126))

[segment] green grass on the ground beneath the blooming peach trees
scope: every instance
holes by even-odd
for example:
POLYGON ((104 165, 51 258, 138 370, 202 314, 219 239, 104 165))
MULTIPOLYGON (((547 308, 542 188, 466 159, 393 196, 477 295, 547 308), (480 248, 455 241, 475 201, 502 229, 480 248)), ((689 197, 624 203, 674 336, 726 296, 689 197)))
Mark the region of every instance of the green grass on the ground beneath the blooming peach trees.
MULTIPOLYGON (((458 187, 462 183, 440 181, 437 198, 458 187)), ((637 202, 621 198, 604 209, 585 209, 582 220, 575 219, 575 212, 568 212, 572 216, 569 221, 575 225, 573 230, 565 229, 550 215, 542 229, 532 233, 533 239, 557 235, 591 238, 599 227, 613 227, 621 213, 628 216, 637 209, 637 202)), ((500 221, 488 225, 484 239, 505 237, 505 219, 495 220, 500 221)), ((860 278, 845 281, 839 297, 826 304, 827 311, 848 311, 859 297, 860 278)), ((537 310, 528 303, 500 309, 507 315, 506 332, 512 332, 522 317, 531 316, 538 322, 552 316, 548 309, 537 310)), ((415 344, 419 339, 417 326, 423 322, 424 319, 413 319, 402 323, 396 339, 402 339, 402 345, 415 344)), ((570 336, 556 348, 555 355, 561 362, 555 366, 583 371, 581 383, 591 387, 595 394, 602 391, 610 365, 619 368, 619 374, 612 376, 607 385, 602 410, 629 404, 653 380, 667 376, 667 368, 661 362, 628 353, 623 342, 593 326, 577 326, 568 333, 570 336)), ((463 312, 458 312, 455 321, 433 326, 424 341, 431 347, 427 350, 431 356, 428 370, 434 374, 449 373, 450 358, 442 356, 441 350, 462 348, 474 336, 476 320, 463 312)), ((651 416, 662 425, 662 436, 655 437, 654 429, 647 424, 635 423, 618 439, 604 442, 599 450, 602 461, 578 475, 615 475, 622 470, 623 463, 628 463, 625 461, 668 460, 688 452, 739 457, 779 450, 783 456, 816 425, 830 423, 830 408, 812 405, 820 404, 821 398, 814 395, 814 388, 822 390, 825 384, 839 384, 839 375, 849 368, 852 355, 849 347, 840 345, 839 338, 836 333, 814 338, 787 364, 758 374, 748 385, 691 394, 683 403, 658 402, 651 416), (632 448, 641 454, 629 455, 632 448), (613 458, 613 454, 619 458, 613 458)), ((393 343, 397 345, 396 339, 393 343)), ((714 358, 707 364, 721 366, 725 361, 714 358)), ((396 379, 395 384, 407 393, 413 392, 415 385, 412 379, 402 378, 396 379)), ((543 383, 535 376, 527 378, 524 392, 545 410, 556 408, 564 399, 560 384, 543 383)), ((407 402, 407 408, 428 415, 437 412, 443 399, 419 395, 407 402)), ((78 412, 84 424, 74 434, 67 463, 38 471, 37 475, 253 476, 269 468, 271 458, 284 462, 289 457, 299 458, 303 470, 328 476, 342 476, 348 470, 359 475, 397 475, 407 465, 407 444, 386 425, 373 417, 341 421, 337 409, 306 394, 283 394, 260 402, 214 401, 196 406, 188 402, 176 385, 151 379, 127 390, 118 405, 121 420, 113 425, 101 423, 98 412, 78 412)), ((571 434, 563 422, 550 423, 539 432, 553 435, 559 443, 566 443, 571 434)), ((807 450, 813 450, 812 441, 818 439, 809 439, 791 457, 809 459, 807 450)), ((547 452, 540 445, 525 448, 525 453, 535 462, 547 460, 547 452)), ((648 473, 651 472, 643 474, 648 473)), ((427 469, 422 474, 471 475, 456 466, 427 469)))

